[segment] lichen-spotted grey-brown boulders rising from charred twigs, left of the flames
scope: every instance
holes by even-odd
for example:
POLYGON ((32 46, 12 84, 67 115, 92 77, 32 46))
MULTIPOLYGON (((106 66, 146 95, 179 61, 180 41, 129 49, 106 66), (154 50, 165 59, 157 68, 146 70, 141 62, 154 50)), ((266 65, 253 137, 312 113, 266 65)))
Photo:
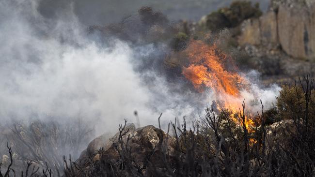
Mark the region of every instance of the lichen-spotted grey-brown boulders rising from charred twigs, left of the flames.
MULTIPOLYGON (((130 147, 130 156, 138 166, 143 166, 143 163, 146 162, 148 156, 151 156, 151 159, 154 159, 153 162, 156 162, 155 165, 158 166, 158 164, 162 163, 160 159, 155 159, 154 155, 162 150, 158 146, 159 143, 166 145, 163 146, 167 147, 167 149, 164 150, 168 151, 170 156, 174 151, 172 145, 175 139, 171 136, 167 136, 165 132, 152 125, 136 129, 134 124, 129 124, 126 126, 123 133, 126 133, 123 136, 123 142, 126 143, 126 147, 130 147)), ((88 148, 81 153, 76 162, 85 169, 91 170, 91 168, 93 168, 89 165, 91 164, 89 163, 91 161, 94 164, 97 163, 97 161, 100 161, 101 158, 105 158, 111 162, 119 161, 121 159, 120 153, 122 152, 118 150, 121 148, 119 147, 120 142, 118 139, 119 132, 112 137, 103 134, 95 138, 88 145, 88 148), (101 152, 100 149, 102 149, 101 152)))

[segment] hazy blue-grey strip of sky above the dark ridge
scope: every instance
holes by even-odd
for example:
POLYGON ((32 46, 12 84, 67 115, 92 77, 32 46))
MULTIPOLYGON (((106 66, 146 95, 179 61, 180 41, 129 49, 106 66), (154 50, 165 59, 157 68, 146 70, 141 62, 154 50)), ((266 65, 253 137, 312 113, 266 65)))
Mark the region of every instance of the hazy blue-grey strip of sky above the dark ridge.
MULTIPOLYGON (((104 25, 121 20, 122 16, 136 14, 142 6, 150 6, 167 15, 171 21, 198 21, 220 7, 228 6, 233 0, 41 0, 39 11, 54 17, 62 9, 72 4, 74 12, 82 24, 104 25)), ((269 0, 251 0, 259 2, 266 11, 269 0)))

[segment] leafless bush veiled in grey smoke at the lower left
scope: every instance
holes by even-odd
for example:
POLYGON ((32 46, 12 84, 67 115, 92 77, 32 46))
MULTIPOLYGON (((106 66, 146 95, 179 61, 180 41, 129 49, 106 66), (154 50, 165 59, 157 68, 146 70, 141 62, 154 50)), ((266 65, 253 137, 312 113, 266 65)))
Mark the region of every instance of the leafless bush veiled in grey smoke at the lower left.
POLYGON ((79 158, 80 152, 90 141, 92 130, 80 119, 63 124, 41 120, 11 123, 1 130, 6 131, 6 134, 1 135, 0 138, 8 142, 8 147, 0 150, 1 154, 5 154, 7 148, 12 147, 10 148, 12 153, 9 156, 3 155, 0 163, 7 167, 12 155, 13 163, 8 167, 9 171, 15 169, 16 172, 25 174, 28 168, 30 171, 36 171, 33 176, 41 176, 42 170, 44 169, 48 174, 49 168, 50 173, 60 176, 64 168, 63 155, 71 153, 74 158, 79 158))

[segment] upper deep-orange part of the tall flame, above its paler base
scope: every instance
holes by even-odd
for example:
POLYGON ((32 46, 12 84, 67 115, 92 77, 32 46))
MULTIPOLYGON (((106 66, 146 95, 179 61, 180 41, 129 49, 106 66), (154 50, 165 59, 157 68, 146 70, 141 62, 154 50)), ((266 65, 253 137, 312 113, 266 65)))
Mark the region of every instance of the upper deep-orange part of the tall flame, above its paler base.
POLYGON ((239 84, 243 78, 233 72, 228 72, 223 62, 227 55, 221 53, 216 45, 206 45, 201 41, 189 44, 185 50, 189 57, 189 66, 183 68, 183 74, 199 91, 203 87, 237 96, 239 84))

